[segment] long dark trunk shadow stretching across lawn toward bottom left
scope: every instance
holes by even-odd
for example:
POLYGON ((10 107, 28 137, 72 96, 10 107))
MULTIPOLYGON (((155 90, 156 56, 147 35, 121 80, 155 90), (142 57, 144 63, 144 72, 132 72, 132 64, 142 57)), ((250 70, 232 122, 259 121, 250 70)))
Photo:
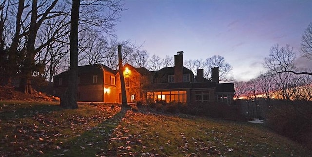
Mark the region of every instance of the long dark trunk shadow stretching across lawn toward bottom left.
POLYGON ((114 116, 90 130, 86 130, 81 135, 60 143, 59 148, 50 149, 44 156, 89 157, 104 154, 105 156, 112 156, 107 154, 109 152, 110 138, 127 111, 128 108, 122 108, 114 116))

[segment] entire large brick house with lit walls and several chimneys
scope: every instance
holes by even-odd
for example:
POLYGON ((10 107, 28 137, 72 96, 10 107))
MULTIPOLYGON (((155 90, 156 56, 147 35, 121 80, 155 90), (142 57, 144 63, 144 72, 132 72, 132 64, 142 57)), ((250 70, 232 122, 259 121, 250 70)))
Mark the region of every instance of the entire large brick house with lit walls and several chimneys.
MULTIPOLYGON (((204 78, 203 69, 197 76, 183 66, 183 51, 174 56, 174 67, 149 71, 124 65, 124 79, 128 102, 146 99, 166 102, 222 102, 231 104, 234 96, 233 83, 219 83, 219 69, 212 68, 212 78, 204 78)), ((78 67, 78 101, 121 103, 119 70, 96 64, 78 67)), ((68 82, 68 72, 56 75, 54 88, 56 96, 61 96, 68 82)))

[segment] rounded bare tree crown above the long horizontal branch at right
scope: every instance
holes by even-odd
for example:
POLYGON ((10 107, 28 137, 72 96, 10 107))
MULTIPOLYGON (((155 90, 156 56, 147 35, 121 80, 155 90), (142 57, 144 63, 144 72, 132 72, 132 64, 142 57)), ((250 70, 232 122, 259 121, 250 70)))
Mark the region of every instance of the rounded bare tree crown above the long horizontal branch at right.
POLYGON ((296 53, 290 45, 279 47, 278 44, 270 49, 269 57, 264 58, 264 67, 275 73, 293 73, 297 75, 312 75, 312 72, 297 72, 295 67, 296 53))

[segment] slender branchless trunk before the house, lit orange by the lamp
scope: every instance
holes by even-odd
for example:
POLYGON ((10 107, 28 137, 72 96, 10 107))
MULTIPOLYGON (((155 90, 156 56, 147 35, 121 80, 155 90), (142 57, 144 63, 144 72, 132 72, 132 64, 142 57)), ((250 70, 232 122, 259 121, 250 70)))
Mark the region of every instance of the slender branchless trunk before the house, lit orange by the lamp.
POLYGON ((120 75, 120 83, 121 83, 121 98, 122 98, 122 107, 128 106, 127 103, 127 93, 125 86, 125 79, 123 76, 123 65, 122 65, 122 56, 121 56, 122 45, 118 45, 118 57, 119 57, 119 75, 120 75))

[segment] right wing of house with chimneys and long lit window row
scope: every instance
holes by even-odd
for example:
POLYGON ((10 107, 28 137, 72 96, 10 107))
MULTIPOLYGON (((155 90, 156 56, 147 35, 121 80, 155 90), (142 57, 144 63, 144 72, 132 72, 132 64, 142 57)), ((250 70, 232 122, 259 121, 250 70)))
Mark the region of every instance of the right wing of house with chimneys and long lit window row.
POLYGON ((145 87, 147 98, 166 102, 231 104, 234 84, 219 83, 218 68, 212 68, 212 78, 209 81, 204 78, 203 69, 198 69, 197 76, 194 76, 190 69, 183 66, 183 51, 177 52, 174 59, 174 67, 151 72, 152 81, 145 87))

